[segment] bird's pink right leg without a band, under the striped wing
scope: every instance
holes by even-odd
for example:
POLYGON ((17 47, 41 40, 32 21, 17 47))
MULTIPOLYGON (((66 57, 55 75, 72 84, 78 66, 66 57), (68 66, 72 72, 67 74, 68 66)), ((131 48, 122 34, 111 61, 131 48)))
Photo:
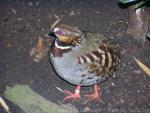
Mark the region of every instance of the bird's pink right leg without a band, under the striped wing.
POLYGON ((101 96, 99 95, 100 87, 98 85, 94 85, 94 92, 90 95, 84 95, 88 98, 88 100, 85 103, 88 103, 89 101, 100 101, 101 96))

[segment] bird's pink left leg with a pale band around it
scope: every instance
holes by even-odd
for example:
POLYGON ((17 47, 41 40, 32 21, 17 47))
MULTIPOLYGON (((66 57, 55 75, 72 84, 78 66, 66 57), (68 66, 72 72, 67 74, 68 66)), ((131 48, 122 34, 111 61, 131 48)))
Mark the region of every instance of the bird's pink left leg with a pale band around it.
POLYGON ((63 101, 66 101, 68 99, 71 99, 73 101, 76 101, 77 99, 80 98, 80 86, 77 86, 77 88, 75 89, 75 93, 71 93, 70 91, 68 90, 64 90, 65 94, 67 94, 68 96, 66 96, 64 98, 63 101))

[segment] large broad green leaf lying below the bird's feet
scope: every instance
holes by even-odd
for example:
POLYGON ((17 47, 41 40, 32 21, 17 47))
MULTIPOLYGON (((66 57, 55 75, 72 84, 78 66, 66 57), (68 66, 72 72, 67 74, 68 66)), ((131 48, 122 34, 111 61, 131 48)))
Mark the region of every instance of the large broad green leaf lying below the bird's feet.
POLYGON ((16 84, 11 88, 7 88, 4 95, 25 113, 78 113, 77 110, 71 107, 66 108, 46 100, 27 85, 16 84))

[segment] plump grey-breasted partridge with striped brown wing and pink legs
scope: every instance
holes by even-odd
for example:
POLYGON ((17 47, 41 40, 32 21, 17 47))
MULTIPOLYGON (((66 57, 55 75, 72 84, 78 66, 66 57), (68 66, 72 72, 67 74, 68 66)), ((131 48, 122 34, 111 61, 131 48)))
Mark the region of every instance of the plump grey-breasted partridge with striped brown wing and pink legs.
POLYGON ((81 31, 61 24, 50 35, 49 59, 57 75, 76 86, 75 92, 64 90, 66 100, 81 98, 84 86, 93 86, 93 93, 84 95, 87 102, 101 100, 99 84, 115 74, 120 63, 120 47, 100 33, 81 31))

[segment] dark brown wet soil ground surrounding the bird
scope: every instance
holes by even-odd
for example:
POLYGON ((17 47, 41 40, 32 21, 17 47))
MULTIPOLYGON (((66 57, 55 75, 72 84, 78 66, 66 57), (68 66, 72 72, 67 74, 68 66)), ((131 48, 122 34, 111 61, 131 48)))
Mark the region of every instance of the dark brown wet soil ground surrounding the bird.
MULTIPOLYGON (((127 9, 119 8, 117 0, 1 0, 0 94, 3 97, 7 86, 26 84, 47 100, 59 103, 65 95, 56 87, 73 91, 75 86, 55 74, 48 56, 39 63, 29 57, 38 37, 46 39, 50 26, 63 16, 60 24, 113 38, 122 51, 116 77, 100 84, 103 102, 84 105, 84 99, 80 99, 72 104, 80 113, 149 113, 150 77, 138 67, 133 57, 150 66, 150 42, 147 40, 144 45, 139 45, 126 35, 126 24, 118 22, 128 21, 127 15, 127 9)), ((81 94, 92 90, 89 87, 82 89, 81 94)), ((12 113, 22 113, 16 105, 7 103, 12 113)))

